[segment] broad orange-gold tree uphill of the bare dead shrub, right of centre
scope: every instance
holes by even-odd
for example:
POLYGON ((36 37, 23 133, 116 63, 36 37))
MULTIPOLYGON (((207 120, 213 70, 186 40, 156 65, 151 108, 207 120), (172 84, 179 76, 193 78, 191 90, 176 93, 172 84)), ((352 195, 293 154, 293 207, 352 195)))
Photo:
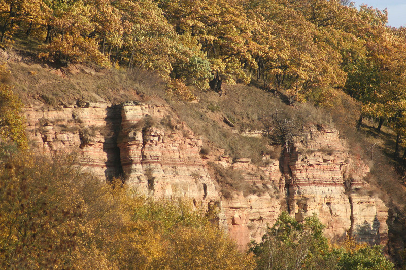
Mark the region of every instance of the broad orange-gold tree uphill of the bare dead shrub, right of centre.
POLYGON ((257 1, 246 8, 257 25, 254 57, 257 78, 262 76, 264 85, 272 78, 274 87, 285 88, 293 102, 304 101, 312 89, 344 84, 341 55, 325 41, 329 31, 318 29, 302 10, 276 0, 257 1))

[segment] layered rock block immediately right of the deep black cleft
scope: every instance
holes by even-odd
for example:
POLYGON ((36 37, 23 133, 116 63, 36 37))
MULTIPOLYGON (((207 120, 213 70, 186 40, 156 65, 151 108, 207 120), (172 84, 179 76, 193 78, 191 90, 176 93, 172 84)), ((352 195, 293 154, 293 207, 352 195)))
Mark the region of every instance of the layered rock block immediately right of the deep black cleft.
POLYGON ((121 165, 126 182, 142 194, 214 200, 216 190, 199 152, 201 140, 169 108, 121 106, 121 165))

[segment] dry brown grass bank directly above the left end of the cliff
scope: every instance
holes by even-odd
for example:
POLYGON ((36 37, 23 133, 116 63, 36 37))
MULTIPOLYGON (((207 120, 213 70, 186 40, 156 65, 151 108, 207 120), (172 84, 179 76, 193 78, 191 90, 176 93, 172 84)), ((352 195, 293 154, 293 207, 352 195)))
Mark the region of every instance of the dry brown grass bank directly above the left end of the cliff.
POLYGON ((54 69, 30 61, 9 61, 8 66, 15 92, 25 104, 37 101, 56 107, 61 103, 74 104, 78 100, 118 104, 143 100, 145 94, 164 97, 162 79, 142 70, 127 72, 80 64, 54 69))

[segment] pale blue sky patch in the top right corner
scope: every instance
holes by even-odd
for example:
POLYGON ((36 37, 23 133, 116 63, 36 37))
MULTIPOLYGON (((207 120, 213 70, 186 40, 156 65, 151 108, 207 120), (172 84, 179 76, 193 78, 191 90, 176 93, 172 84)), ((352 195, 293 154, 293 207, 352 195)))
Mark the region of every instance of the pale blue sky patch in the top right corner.
POLYGON ((406 0, 356 0, 354 2, 356 7, 364 3, 380 10, 388 8, 388 25, 406 26, 406 0))

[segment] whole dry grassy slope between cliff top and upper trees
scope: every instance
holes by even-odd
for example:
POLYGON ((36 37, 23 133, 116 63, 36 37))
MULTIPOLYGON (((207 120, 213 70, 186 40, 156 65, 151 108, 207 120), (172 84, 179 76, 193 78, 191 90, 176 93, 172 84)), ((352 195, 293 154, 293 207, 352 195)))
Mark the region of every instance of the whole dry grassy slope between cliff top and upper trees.
MULTIPOLYGON (((164 82, 159 76, 146 71, 127 72, 124 69, 104 69, 91 64, 73 65, 56 69, 35 57, 28 50, 31 44, 17 41, 9 50, 8 65, 12 72, 15 91, 25 104, 43 105, 44 108, 60 103, 82 101, 107 101, 120 103, 130 100, 155 103, 165 99, 195 132, 205 140, 208 151, 225 149, 232 158, 251 158, 261 161, 262 152, 272 151, 269 144, 277 144, 277 138, 244 136, 245 131, 263 130, 272 124, 271 115, 278 110, 280 117, 302 122, 323 123, 335 126, 346 136, 353 152, 361 155, 371 166, 371 183, 377 186, 381 197, 385 193, 401 208, 406 202, 403 182, 394 173, 396 164, 391 153, 394 149, 394 134, 388 127, 377 133, 375 123, 364 122, 361 132, 354 129, 359 113, 357 104, 346 96, 339 96, 335 105, 327 110, 311 104, 286 105, 283 95, 275 95, 254 86, 226 86, 225 94, 219 97, 213 91, 195 93, 199 102, 180 103, 168 100, 164 82), (160 98, 153 98, 156 95, 160 98), (234 123, 230 127, 224 118, 234 123), (384 190, 385 192, 379 191, 384 190)), ((297 129, 295 131, 298 131, 297 129)))

